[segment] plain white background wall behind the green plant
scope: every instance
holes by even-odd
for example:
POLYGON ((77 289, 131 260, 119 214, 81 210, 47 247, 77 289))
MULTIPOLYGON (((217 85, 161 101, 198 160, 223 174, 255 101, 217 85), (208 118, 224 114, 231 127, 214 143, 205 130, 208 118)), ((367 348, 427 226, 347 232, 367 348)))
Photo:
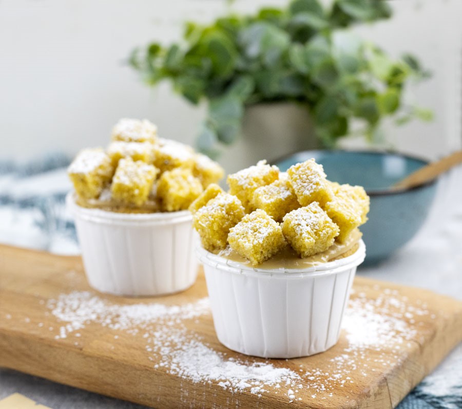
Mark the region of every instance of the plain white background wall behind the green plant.
MULTIPOLYGON (((237 0, 232 8, 285 3, 237 0)), ((436 117, 387 127, 387 136, 400 150, 436 157, 461 144, 462 1, 390 4, 393 20, 359 32, 394 54, 414 52, 433 71, 413 95, 436 117)), ((168 84, 146 88, 124 61, 149 40, 179 39, 184 20, 210 21, 228 8, 225 0, 0 1, 0 158, 105 145, 120 117, 149 118, 163 136, 194 143, 204 106, 184 102, 168 84)))

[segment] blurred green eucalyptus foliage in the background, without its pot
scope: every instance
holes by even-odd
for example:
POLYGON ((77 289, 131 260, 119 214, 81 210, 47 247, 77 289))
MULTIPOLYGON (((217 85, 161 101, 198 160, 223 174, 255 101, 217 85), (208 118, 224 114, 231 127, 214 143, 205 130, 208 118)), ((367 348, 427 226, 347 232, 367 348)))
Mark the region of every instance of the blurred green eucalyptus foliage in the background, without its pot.
POLYGON ((391 14, 382 1, 335 0, 324 7, 293 0, 286 8, 227 15, 210 25, 185 23, 181 43, 153 42, 133 50, 129 61, 147 84, 168 79, 191 103, 208 101, 198 146, 211 156, 238 137, 246 106, 273 101, 305 105, 316 136, 333 146, 353 120, 361 120, 372 139, 384 117, 403 123, 431 116, 402 102, 410 78, 427 76, 417 59, 394 59, 348 30, 391 14))

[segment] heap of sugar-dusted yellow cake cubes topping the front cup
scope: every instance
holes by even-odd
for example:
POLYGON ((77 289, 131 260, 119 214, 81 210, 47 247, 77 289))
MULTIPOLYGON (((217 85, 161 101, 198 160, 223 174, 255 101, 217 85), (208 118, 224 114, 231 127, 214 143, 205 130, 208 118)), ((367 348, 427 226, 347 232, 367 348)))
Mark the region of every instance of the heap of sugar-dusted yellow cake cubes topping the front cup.
POLYGON ((210 184, 191 203, 194 227, 206 250, 229 245, 254 266, 287 245, 304 258, 344 243, 369 212, 362 187, 327 180, 314 159, 286 173, 260 161, 227 183, 228 193, 210 184))

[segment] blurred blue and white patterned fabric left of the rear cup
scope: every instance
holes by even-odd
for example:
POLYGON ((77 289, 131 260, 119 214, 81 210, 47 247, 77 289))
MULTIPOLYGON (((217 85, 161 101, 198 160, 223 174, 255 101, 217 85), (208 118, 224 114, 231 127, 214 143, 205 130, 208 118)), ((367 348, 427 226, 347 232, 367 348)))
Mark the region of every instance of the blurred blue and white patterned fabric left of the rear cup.
POLYGON ((70 159, 50 154, 17 164, 0 161, 0 242, 79 253, 75 227, 64 206, 71 185, 66 176, 70 159))

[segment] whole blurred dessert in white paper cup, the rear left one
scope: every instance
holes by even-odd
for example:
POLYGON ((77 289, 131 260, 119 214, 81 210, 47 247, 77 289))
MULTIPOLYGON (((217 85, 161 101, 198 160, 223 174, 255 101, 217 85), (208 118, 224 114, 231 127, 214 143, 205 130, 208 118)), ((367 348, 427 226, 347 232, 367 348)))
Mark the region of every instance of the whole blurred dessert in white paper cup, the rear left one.
POLYGON ((106 150, 81 151, 68 168, 88 282, 111 294, 175 293, 196 281, 195 233, 187 210, 212 182, 218 163, 157 137, 147 120, 122 119, 106 150))

